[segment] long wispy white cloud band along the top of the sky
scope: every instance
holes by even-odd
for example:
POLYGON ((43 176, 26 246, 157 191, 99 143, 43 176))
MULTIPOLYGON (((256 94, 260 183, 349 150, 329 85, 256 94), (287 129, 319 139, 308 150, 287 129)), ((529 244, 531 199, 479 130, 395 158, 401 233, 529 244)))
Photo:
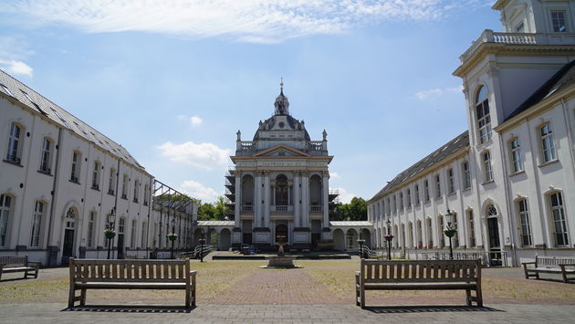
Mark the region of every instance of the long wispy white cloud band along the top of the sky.
POLYGON ((0 5, 0 13, 34 24, 76 26, 89 33, 144 31, 224 36, 250 43, 338 34, 386 20, 437 20, 486 0, 37 0, 0 5))

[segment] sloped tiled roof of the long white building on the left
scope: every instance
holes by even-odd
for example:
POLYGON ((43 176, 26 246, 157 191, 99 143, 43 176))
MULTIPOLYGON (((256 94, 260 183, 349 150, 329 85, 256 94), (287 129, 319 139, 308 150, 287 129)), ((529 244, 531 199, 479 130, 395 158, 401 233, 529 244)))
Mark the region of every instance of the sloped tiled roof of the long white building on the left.
POLYGON ((0 69, 0 84, 5 86, 0 87, 0 92, 10 96, 24 105, 26 105, 30 110, 34 110, 44 115, 48 119, 56 122, 62 128, 68 129, 68 131, 73 131, 78 136, 84 138, 86 141, 91 141, 94 145, 98 146, 100 149, 110 152, 110 154, 118 157, 124 162, 128 162, 142 171, 144 167, 131 156, 130 152, 123 148, 120 144, 115 141, 110 140, 106 135, 97 131, 96 129, 89 126, 82 120, 64 110, 54 102, 46 99, 41 94, 37 93, 34 89, 28 88, 24 83, 13 78, 5 71, 0 69), (27 94, 27 96, 26 96, 27 94))

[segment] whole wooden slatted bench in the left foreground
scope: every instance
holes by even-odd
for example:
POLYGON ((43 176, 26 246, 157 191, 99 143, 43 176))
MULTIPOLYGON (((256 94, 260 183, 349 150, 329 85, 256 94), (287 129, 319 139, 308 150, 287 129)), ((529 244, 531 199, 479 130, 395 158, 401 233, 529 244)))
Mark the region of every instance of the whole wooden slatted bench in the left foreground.
POLYGON ((86 304, 88 289, 182 289, 195 307, 195 276, 188 260, 96 260, 70 258, 68 307, 86 304), (80 290, 80 296, 76 291, 80 290))

